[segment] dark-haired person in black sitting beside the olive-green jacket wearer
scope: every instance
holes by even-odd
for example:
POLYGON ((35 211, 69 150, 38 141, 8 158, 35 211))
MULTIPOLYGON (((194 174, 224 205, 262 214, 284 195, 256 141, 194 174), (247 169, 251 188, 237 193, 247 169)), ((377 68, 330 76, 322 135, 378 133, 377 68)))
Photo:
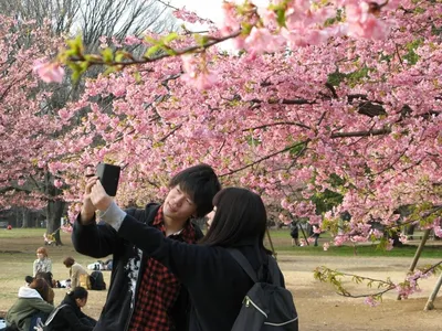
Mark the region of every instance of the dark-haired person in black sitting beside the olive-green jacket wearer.
POLYGON ((87 303, 87 290, 76 287, 70 290, 63 301, 51 313, 45 322, 46 331, 91 331, 96 320, 82 311, 87 303))

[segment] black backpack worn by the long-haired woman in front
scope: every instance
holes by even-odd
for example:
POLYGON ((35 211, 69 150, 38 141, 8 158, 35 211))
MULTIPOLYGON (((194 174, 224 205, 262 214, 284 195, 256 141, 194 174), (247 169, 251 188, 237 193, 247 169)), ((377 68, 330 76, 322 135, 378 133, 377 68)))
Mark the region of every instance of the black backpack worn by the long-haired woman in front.
POLYGON ((276 260, 269 257, 272 282, 264 282, 257 279, 256 273, 240 250, 228 250, 254 281, 244 297, 232 331, 298 331, 295 303, 292 293, 282 287, 276 260))

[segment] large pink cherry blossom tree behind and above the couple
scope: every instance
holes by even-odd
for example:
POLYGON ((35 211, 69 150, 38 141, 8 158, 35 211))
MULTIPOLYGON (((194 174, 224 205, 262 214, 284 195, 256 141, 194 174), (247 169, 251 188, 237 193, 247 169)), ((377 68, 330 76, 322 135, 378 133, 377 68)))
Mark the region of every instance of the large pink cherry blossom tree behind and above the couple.
MULTIPOLYGON (((87 81, 83 98, 60 111, 65 125, 86 115, 60 140, 65 159, 51 169, 72 184, 88 164, 123 164, 117 199, 141 204, 165 193, 171 173, 207 162, 224 185, 252 188, 330 231, 327 247, 373 239, 391 248, 372 220, 441 236, 442 8, 325 3, 274 1, 261 14, 251 2, 225 3, 224 26, 209 36, 185 30, 130 40, 150 46, 140 58, 85 54, 81 40, 72 42, 57 61, 77 74, 105 64, 110 74, 87 81), (225 39, 246 52, 215 49, 225 39), (318 214, 313 197, 326 191, 341 201, 318 214), (399 220, 404 205, 411 212, 399 220), (343 213, 351 218, 343 223, 343 213)), ((65 194, 78 200, 75 190, 65 194)), ((407 297, 436 267, 386 285, 407 297)))

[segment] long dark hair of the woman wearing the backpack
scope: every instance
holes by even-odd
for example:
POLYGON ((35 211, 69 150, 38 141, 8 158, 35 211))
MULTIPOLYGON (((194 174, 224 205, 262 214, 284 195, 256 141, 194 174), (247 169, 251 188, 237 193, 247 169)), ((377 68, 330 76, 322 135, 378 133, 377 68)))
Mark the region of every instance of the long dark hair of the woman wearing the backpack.
POLYGON ((264 248, 267 213, 260 195, 240 188, 228 188, 213 197, 217 212, 207 235, 200 244, 233 247, 256 243, 264 248))

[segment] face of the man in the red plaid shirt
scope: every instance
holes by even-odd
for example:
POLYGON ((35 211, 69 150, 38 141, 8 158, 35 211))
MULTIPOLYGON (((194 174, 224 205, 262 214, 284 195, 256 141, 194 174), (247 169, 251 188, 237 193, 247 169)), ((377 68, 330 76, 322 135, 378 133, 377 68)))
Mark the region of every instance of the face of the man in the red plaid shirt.
POLYGON ((162 213, 166 218, 172 221, 188 220, 197 212, 197 204, 189 194, 181 191, 180 186, 173 186, 167 194, 162 213))

